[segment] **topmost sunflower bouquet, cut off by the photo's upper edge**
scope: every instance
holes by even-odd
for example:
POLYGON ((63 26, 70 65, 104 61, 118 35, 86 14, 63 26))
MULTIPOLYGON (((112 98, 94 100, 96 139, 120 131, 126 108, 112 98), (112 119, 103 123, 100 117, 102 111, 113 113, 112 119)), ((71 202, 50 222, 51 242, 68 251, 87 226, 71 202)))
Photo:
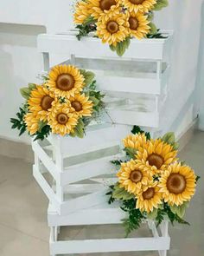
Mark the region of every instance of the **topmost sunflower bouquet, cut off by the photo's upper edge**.
POLYGON ((80 0, 74 23, 77 38, 94 35, 123 56, 131 38, 165 38, 153 23, 154 11, 168 6, 168 0, 80 0))

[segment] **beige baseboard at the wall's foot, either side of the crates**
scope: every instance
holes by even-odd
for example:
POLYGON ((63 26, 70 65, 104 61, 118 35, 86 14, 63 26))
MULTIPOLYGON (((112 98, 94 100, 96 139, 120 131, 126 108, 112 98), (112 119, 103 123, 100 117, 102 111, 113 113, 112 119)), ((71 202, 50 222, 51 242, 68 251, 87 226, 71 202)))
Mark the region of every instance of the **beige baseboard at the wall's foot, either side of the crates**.
MULTIPOLYGON (((179 135, 178 141, 180 143, 180 150, 184 148, 188 141, 194 135, 194 130, 197 129, 197 119, 193 121, 188 128, 179 135)), ((10 141, 0 138, 0 154, 11 158, 22 159, 27 162, 34 162, 34 154, 30 145, 18 142, 10 141)))

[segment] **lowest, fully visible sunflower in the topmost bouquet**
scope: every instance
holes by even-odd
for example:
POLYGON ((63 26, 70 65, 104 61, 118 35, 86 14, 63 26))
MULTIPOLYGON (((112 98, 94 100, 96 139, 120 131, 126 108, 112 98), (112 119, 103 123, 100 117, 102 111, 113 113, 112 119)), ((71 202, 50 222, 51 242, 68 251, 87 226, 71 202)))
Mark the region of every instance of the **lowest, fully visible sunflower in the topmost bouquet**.
POLYGON ((128 34, 128 16, 124 13, 109 12, 99 17, 97 23, 97 36, 102 43, 116 46, 118 42, 124 41, 128 34))

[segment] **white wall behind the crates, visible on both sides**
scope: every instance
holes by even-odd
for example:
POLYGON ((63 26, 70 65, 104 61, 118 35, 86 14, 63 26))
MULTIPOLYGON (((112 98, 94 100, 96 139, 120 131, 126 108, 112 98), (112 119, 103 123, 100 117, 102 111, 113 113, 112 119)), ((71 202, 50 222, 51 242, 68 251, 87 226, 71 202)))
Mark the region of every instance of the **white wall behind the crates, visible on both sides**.
MULTIPOLYGON (((175 30, 170 92, 163 121, 164 130, 171 128, 180 132, 196 114, 191 100, 194 98, 203 0, 196 0, 196 4, 192 0, 169 2, 169 8, 156 13, 158 27, 175 30)), ((10 130, 9 119, 22 102, 18 89, 35 82, 42 68, 36 36, 45 32, 45 27, 50 33, 72 27, 72 3, 70 0, 35 0, 32 4, 28 0, 0 1, 0 136, 18 139, 17 133, 10 130)), ((27 141, 26 138, 20 140, 27 141)))

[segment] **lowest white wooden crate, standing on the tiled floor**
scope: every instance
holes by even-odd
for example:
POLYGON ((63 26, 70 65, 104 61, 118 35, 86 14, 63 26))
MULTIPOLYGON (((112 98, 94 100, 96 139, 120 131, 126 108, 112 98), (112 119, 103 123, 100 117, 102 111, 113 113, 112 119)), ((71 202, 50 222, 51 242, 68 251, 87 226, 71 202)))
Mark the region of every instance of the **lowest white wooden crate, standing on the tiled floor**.
MULTIPOLYGON (((122 219, 126 217, 125 213, 118 206, 108 206, 101 204, 98 207, 81 210, 76 213, 60 216, 50 204, 48 208, 48 226, 50 226, 50 254, 74 254, 74 253, 113 253, 113 252, 134 252, 134 251, 158 251, 160 256, 166 256, 169 250, 170 238, 168 233, 168 221, 163 221, 160 230, 157 230, 153 221, 148 220, 148 226, 152 232, 152 237, 131 237, 121 238, 124 232, 120 230, 113 233, 113 238, 103 239, 99 233, 97 239, 83 240, 61 240, 61 226, 109 226, 112 224, 121 224, 122 219)), ((106 228, 107 228, 106 227, 106 228)), ((93 227, 94 230, 95 226, 93 227)))

